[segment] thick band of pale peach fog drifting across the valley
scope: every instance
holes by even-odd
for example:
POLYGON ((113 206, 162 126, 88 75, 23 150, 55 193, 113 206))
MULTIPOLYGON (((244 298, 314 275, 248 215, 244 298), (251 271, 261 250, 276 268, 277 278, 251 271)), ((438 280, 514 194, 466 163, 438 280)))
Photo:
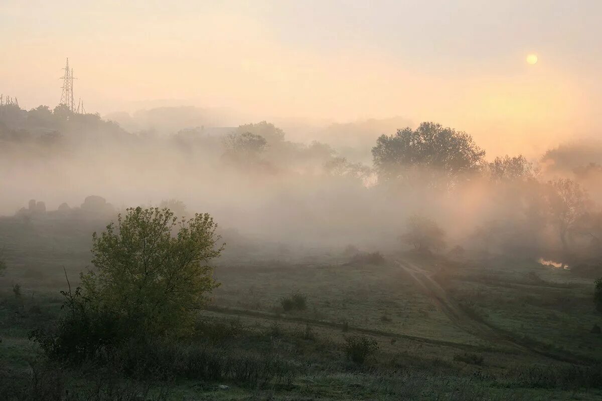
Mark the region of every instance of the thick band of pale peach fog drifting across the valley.
MULTIPOLYGON (((602 200, 602 146, 585 137, 542 148, 539 158, 494 161, 487 149, 474 170, 458 174, 433 167, 437 156, 431 164, 394 167, 396 178, 386 180, 371 150, 380 134, 393 138, 391 127, 407 122, 401 118, 306 127, 305 138, 315 139, 296 142, 265 121, 216 127, 216 117, 194 108, 114 115, 123 127, 98 115, 64 112, 4 107, 3 215, 18 215, 30 199, 55 210, 99 195, 115 213, 175 199, 188 215, 211 213, 238 239, 339 251, 348 245, 404 248, 406 220, 421 215, 444 230, 446 249, 557 257, 548 181, 580 183, 589 212, 602 200)), ((585 249, 587 240, 575 235, 585 249)))

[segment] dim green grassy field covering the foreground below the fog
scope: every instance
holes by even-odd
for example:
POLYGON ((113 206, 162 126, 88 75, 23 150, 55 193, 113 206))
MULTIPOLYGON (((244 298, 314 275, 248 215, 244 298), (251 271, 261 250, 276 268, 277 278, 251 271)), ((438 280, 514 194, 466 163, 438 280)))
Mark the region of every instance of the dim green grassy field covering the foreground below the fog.
POLYGON ((350 262, 338 251, 286 262, 229 257, 216 266, 222 286, 200 312, 196 337, 136 354, 148 355, 149 369, 161 361, 160 378, 96 366, 49 368, 28 333, 60 314, 65 271, 75 284, 89 263, 90 233, 102 226, 0 222, 8 263, 0 278, 0 379, 13 399, 36 399, 19 396, 15 384, 51 382, 60 384, 55 393, 79 394, 72 399, 132 401, 140 394, 155 400, 602 398, 602 335, 590 332, 602 319, 594 313, 591 280, 502 257, 399 253, 376 264, 350 262), (285 311, 282 299, 294 294, 305 296, 305 308, 285 311), (352 336, 373 338, 379 347, 363 364, 347 357, 352 336), (121 398, 109 397, 107 388, 121 398))

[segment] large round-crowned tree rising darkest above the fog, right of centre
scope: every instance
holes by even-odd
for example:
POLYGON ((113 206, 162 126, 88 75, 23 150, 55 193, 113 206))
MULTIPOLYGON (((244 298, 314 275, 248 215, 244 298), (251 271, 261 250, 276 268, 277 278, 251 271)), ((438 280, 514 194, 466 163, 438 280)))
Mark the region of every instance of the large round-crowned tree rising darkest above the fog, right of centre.
POLYGON ((465 132, 422 123, 415 130, 407 127, 395 135, 381 135, 372 156, 379 182, 414 179, 448 186, 479 170, 485 151, 465 132))

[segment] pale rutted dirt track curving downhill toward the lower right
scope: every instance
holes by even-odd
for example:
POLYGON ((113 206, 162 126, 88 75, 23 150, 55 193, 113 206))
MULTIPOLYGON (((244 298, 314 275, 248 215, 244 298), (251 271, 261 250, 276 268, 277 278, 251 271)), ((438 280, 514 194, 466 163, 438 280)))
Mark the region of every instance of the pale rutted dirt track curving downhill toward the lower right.
POLYGON ((421 287, 423 292, 429 296, 435 303, 436 307, 441 310, 445 316, 448 317, 459 329, 474 335, 475 337, 482 338, 483 340, 491 341, 497 345, 509 347, 511 349, 518 350, 520 352, 529 352, 533 354, 543 355, 545 357, 569 362, 569 363, 582 363, 582 360, 573 357, 573 355, 557 355, 551 354, 547 350, 540 349, 539 347, 533 346, 532 344, 524 344, 518 341, 516 338, 501 332, 500 329, 494 328, 485 322, 476 320, 467 314, 459 307, 453 299, 447 295, 445 290, 433 279, 430 272, 425 271, 423 268, 418 266, 416 263, 404 260, 403 262, 396 261, 410 277, 416 281, 421 287))

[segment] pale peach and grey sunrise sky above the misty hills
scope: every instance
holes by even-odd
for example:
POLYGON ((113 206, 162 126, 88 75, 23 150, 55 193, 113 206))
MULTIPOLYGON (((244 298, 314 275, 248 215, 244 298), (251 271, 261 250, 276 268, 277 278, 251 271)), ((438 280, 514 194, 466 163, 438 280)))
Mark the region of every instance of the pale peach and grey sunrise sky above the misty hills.
POLYGON ((2 0, 0 92, 54 107, 69 57, 88 112, 401 116, 528 154, 600 133, 601 15, 598 0, 2 0))

